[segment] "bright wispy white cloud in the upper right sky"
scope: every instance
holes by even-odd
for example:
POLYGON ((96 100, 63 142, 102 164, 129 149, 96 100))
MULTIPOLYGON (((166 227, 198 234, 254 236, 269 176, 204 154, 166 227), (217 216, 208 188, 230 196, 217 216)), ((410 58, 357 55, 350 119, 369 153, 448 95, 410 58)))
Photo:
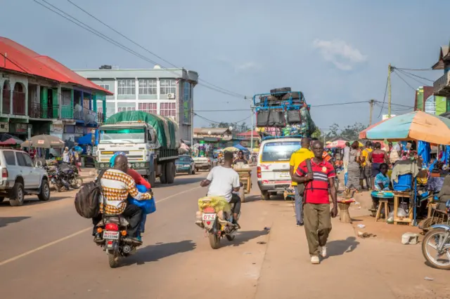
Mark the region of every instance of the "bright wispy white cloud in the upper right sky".
POLYGON ((313 42, 313 46, 319 49, 323 59, 332 62, 335 67, 344 71, 350 71, 354 65, 367 60, 366 55, 363 55, 361 51, 350 46, 345 41, 316 39, 313 42))

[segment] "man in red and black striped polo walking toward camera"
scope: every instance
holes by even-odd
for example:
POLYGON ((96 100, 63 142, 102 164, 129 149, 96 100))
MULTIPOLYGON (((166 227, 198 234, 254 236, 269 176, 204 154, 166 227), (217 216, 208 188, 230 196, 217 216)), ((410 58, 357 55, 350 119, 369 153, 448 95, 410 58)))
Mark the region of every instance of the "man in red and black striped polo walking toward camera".
POLYGON ((324 161, 323 143, 315 141, 312 145, 314 158, 311 159, 311 170, 308 171, 307 161, 303 161, 297 168, 293 180, 304 183, 304 232, 307 234, 311 263, 319 264, 319 254, 326 257, 326 241, 331 231, 331 217, 338 215, 338 197, 334 184, 335 170, 333 165, 324 161), (333 209, 330 211, 330 188, 333 209), (319 246, 321 251, 319 251, 319 246))

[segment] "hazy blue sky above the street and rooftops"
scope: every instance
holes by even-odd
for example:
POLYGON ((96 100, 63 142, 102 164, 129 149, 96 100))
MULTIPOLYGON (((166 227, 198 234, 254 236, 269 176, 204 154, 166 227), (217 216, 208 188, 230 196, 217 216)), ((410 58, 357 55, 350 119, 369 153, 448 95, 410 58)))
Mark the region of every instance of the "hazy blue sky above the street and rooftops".
MULTIPOLYGON (((169 67, 68 0, 35 1, 47 1, 169 67)), ((153 67, 35 1, 2 1, 0 36, 72 69, 153 67)), ((368 101, 383 102, 389 63, 409 69, 430 68, 439 58, 439 46, 450 41, 446 13, 450 1, 446 0, 70 1, 171 64, 194 70, 200 79, 233 93, 251 98, 276 87, 302 91, 312 106, 313 120, 323 131, 334 123, 341 128, 355 122, 368 124, 368 101), (314 107, 359 101, 367 103, 314 107)), ((413 74, 435 80, 443 71, 413 74)), ((432 85, 424 79, 418 81, 432 85)), ((392 102, 413 106, 414 88, 424 85, 418 81, 394 72, 392 102)), ((206 119, 245 119, 250 124, 250 104, 250 100, 201 85, 194 88, 195 112, 206 119), (245 111, 217 111, 221 109, 245 111)), ((392 114, 408 112, 407 107, 392 109, 392 114)), ((380 107, 375 106, 374 121, 379 115, 380 107)), ((210 125, 200 117, 195 117, 194 124, 210 125)))

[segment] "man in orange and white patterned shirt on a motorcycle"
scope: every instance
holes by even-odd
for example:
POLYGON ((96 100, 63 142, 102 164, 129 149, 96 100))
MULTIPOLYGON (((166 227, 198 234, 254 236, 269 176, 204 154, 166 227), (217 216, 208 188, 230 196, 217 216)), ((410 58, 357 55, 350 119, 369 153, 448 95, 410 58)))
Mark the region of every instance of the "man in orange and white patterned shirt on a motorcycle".
POLYGON ((108 169, 101 178, 103 196, 100 197, 101 213, 109 215, 122 214, 129 218, 128 237, 134 243, 141 243, 136 239, 136 234, 141 223, 142 209, 134 204, 127 204, 128 194, 134 199, 151 199, 150 193, 141 193, 136 189, 136 182, 127 175, 128 159, 120 154, 115 157, 114 168, 108 169), (103 207, 103 201, 105 205, 103 207), (104 208, 104 211, 103 211, 104 208))

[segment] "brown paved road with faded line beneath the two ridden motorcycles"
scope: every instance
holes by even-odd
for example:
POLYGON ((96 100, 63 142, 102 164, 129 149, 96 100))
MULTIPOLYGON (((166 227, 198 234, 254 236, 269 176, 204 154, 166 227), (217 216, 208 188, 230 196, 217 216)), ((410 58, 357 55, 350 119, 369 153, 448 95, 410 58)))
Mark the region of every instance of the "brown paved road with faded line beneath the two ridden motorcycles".
POLYGON ((93 243, 90 221, 75 212, 75 192, 53 192, 49 202, 31 199, 21 207, 0 204, 1 297, 229 298, 238 292, 253 298, 267 212, 261 202, 244 204, 242 232, 212 250, 194 224, 205 175, 181 175, 174 185, 155 188, 157 212, 148 217, 144 245, 116 269, 93 243))

